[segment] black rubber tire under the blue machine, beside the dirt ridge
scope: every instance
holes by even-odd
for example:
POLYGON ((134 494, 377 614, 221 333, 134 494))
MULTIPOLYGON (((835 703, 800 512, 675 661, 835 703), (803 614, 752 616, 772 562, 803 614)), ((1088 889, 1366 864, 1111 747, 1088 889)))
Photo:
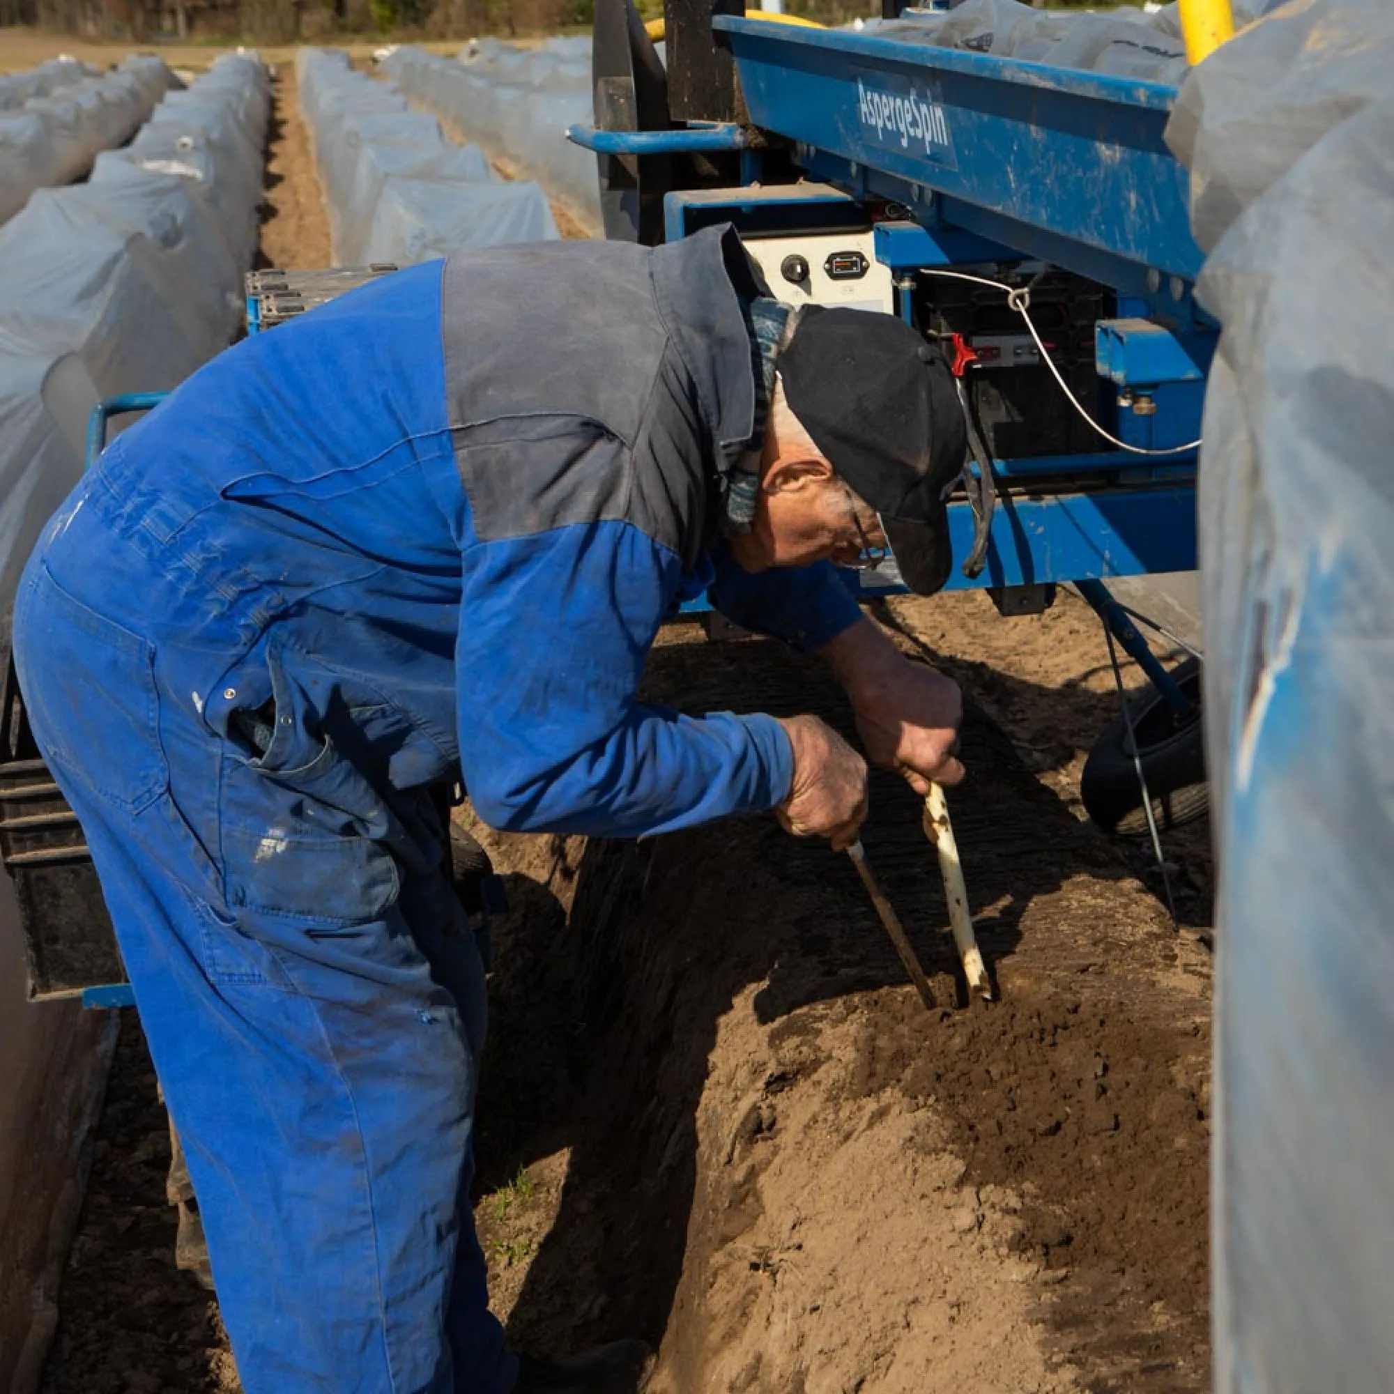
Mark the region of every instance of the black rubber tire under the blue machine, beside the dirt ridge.
MULTIPOLYGON (((1195 704, 1185 721, 1178 723, 1165 700, 1151 689, 1128 708, 1151 795, 1153 817, 1161 829, 1193 822, 1210 809, 1199 659, 1188 658, 1179 664, 1172 669, 1172 677, 1195 704)), ((1128 743, 1128 725, 1121 714, 1094 742, 1080 775, 1079 796, 1085 811, 1105 832, 1125 838, 1146 836, 1147 815, 1128 743)))

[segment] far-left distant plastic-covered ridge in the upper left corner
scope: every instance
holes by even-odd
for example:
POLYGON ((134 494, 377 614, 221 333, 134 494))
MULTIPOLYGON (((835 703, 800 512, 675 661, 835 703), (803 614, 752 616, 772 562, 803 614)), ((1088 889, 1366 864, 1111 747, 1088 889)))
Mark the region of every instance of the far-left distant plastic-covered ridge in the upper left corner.
POLYGON ((0 110, 0 223, 36 188, 77 178, 100 151, 120 145, 177 82, 151 57, 127 59, 99 77, 82 77, 77 63, 59 67, 22 106, 0 110), (72 68, 77 81, 68 81, 72 68))

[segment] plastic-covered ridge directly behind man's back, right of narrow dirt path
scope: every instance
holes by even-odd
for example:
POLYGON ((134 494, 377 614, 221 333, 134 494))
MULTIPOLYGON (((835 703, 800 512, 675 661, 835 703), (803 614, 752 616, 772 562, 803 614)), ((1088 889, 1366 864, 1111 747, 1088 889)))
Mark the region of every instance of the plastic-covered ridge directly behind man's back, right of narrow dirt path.
POLYGON ((354 72, 343 53, 325 49, 301 49, 296 68, 336 265, 407 266, 559 236, 537 184, 496 180, 478 146, 447 139, 390 82, 354 72))

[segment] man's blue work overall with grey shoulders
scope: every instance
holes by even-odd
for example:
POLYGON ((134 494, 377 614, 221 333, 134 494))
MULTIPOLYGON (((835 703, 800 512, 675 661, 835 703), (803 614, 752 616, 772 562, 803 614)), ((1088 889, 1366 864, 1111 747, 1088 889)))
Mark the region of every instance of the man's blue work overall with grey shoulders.
POLYGON ((248 1394, 516 1380, 470 1211, 484 972, 428 790, 612 836, 788 792, 772 718, 636 700, 703 584, 804 647, 857 616, 831 569, 711 555, 750 276, 712 231, 386 277, 191 378, 29 560, 21 684, 248 1394))

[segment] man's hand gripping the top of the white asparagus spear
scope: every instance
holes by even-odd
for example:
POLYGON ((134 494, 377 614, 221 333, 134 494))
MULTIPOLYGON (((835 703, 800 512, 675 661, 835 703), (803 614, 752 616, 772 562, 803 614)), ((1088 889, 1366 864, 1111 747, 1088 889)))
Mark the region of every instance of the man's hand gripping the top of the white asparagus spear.
POLYGON ((899 771, 920 795, 931 779, 955 785, 963 778, 956 758, 963 694, 952 677, 896 655, 850 696, 873 764, 899 771))

